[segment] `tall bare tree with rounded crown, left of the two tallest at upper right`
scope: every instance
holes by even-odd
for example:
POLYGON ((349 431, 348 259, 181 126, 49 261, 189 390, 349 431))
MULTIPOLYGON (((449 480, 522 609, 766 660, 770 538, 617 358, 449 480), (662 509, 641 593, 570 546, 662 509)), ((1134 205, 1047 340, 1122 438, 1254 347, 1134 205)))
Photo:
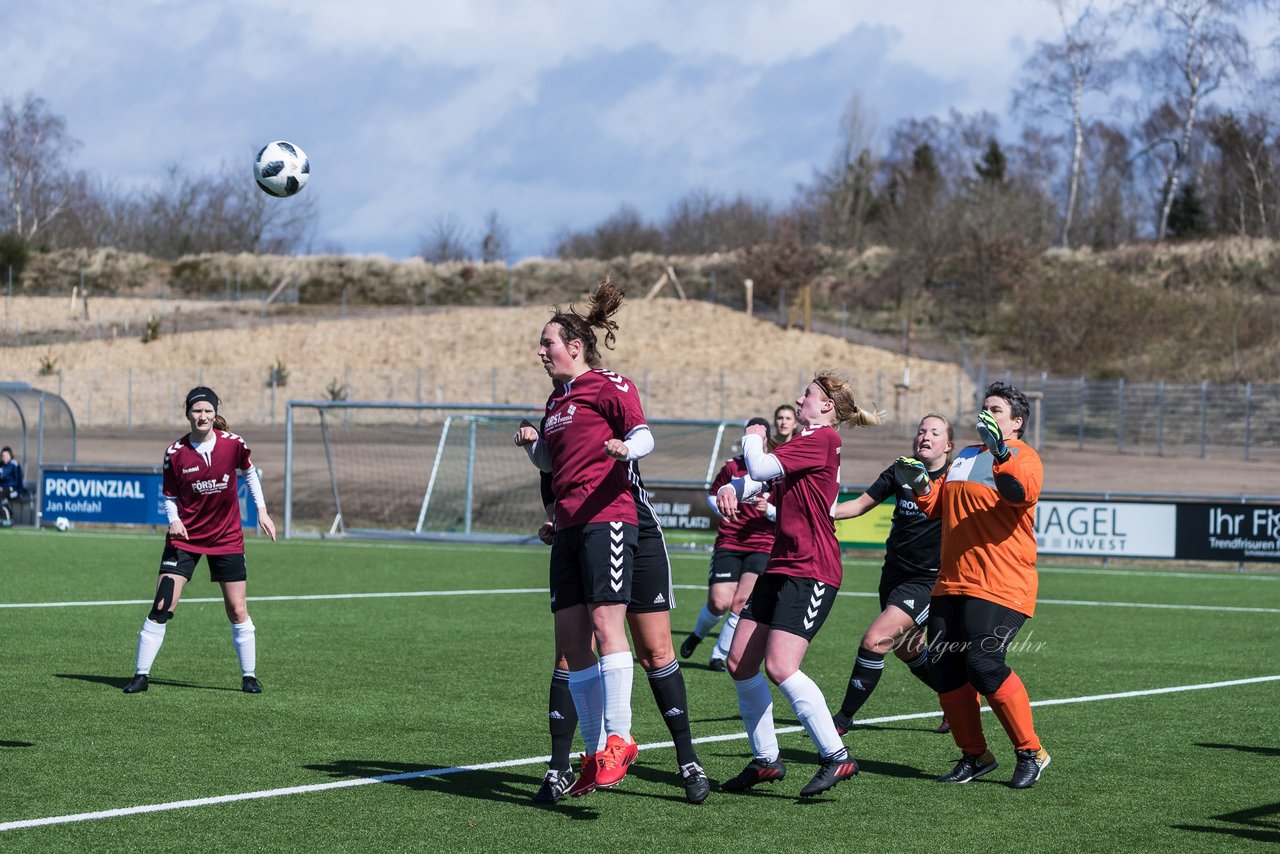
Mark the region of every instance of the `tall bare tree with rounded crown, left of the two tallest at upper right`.
POLYGON ((1014 93, 1014 109, 1032 115, 1051 115, 1071 128, 1071 157, 1066 204, 1062 210, 1061 245, 1071 245, 1071 225, 1079 200, 1084 166, 1084 99, 1105 93, 1120 73, 1110 20, 1089 0, 1052 0, 1062 24, 1057 42, 1038 42, 1023 65, 1023 81, 1014 93))

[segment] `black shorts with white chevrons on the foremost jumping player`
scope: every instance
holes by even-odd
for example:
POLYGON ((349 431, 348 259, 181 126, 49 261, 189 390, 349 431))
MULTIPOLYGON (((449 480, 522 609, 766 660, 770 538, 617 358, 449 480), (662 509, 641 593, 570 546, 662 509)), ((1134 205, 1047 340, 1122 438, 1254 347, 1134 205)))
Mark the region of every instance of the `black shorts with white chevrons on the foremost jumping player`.
POLYGON ((627 522, 591 522, 552 539, 552 611, 579 604, 631 603, 637 530, 627 522))

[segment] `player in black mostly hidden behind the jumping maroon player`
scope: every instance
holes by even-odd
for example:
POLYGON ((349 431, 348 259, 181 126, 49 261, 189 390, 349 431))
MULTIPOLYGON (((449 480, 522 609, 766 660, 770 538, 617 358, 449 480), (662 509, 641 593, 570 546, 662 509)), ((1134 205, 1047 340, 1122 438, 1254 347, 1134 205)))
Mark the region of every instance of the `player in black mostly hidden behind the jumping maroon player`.
MULTIPOLYGON (((689 730, 689 700, 685 690, 685 675, 676 661, 671 645, 671 608, 676 606, 675 589, 671 584, 671 561, 667 557, 667 539, 662 533, 658 515, 653 510, 649 490, 640 478, 640 466, 628 462, 631 495, 636 501, 639 516, 639 540, 631 577, 631 602, 627 604, 627 627, 631 629, 631 641, 636 648, 636 658, 649 677, 649 689, 658 704, 658 714, 671 732, 676 745, 676 762, 680 766, 680 782, 685 787, 685 799, 700 804, 710 794, 710 781, 703 771, 698 752, 694 749, 692 734, 689 730)), ((554 515, 556 497, 552 494, 550 478, 544 472, 543 504, 547 515, 554 515)), ((538 531, 539 538, 550 545, 556 539, 556 524, 547 521, 538 531)), ((550 695, 547 704, 547 720, 552 736, 552 758, 548 763, 543 785, 534 794, 534 803, 554 804, 566 794, 580 798, 595 789, 595 753, 604 745, 588 745, 591 755, 582 757, 582 773, 575 777, 570 767, 570 753, 573 744, 573 731, 577 729, 577 711, 568 691, 568 668, 564 657, 557 652, 556 670, 552 672, 550 695)), ((599 730, 599 725, 595 727, 599 730)))

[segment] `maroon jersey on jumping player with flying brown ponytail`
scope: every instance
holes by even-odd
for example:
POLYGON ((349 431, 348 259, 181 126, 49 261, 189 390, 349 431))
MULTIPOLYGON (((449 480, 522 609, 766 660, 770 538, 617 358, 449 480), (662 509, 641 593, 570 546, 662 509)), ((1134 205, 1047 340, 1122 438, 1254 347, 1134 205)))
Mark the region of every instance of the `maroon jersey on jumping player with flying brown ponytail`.
POLYGON ((627 463, 604 453, 604 443, 625 439, 637 426, 645 426, 640 396, 613 371, 588 371, 547 398, 541 434, 552 458, 557 529, 636 524, 627 463))

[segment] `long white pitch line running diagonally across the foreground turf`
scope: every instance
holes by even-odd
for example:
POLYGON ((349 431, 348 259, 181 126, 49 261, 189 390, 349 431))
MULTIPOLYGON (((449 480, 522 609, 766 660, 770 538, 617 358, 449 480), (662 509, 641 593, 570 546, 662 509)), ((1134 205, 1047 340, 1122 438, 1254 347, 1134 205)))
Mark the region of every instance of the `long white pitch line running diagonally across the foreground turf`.
MULTIPOLYGON (((1277 676, 1253 676, 1249 679, 1233 679, 1222 682, 1201 682, 1198 685, 1172 685, 1170 688, 1151 688, 1140 691, 1117 691, 1114 694, 1091 694, 1088 697, 1064 697, 1052 700, 1034 700, 1033 707, 1039 705, 1065 705, 1069 703, 1098 703, 1102 700, 1117 700, 1117 699, 1130 699, 1134 697, 1155 697, 1160 694, 1179 694, 1183 691, 1203 691, 1217 688, 1235 688, 1238 685, 1257 685, 1261 682, 1274 682, 1280 681, 1280 675, 1277 676)), ((982 708, 983 712, 989 712, 988 707, 982 708)), ((920 718, 940 717, 942 712, 913 712, 910 714, 890 714, 884 717, 867 718, 863 721, 854 721, 858 726, 867 726, 874 723, 893 723, 899 721, 914 721, 920 718)), ((780 727, 778 735, 790 735, 792 732, 803 732, 804 727, 800 726, 787 726, 780 727)), ((713 741, 737 741, 745 739, 745 732, 731 732, 726 735, 712 735, 701 739, 694 739, 695 744, 709 744, 713 741)), ((673 746, 671 741, 654 741, 652 744, 639 745, 641 750, 654 750, 662 748, 673 746)), ((285 786, 282 789, 265 789, 261 791, 242 791, 230 795, 214 795, 210 798, 189 798, 187 800, 173 800, 163 804, 143 804, 140 807, 118 807, 115 809, 101 809, 92 813, 72 813, 68 816, 46 816, 44 818, 24 818, 20 821, 12 821, 0 823, 0 832, 10 830, 24 830, 29 827, 47 827, 50 825, 72 825, 77 822, 100 821, 104 818, 122 818, 125 816, 141 816, 146 813, 160 813, 172 812, 175 809, 192 809, 196 807, 211 807, 214 804, 229 804, 238 800, 262 800, 266 798, 284 798, 287 795, 307 795, 317 791, 332 791, 337 789, 353 789, 356 786, 371 786, 379 782, 397 782, 401 780, 421 780, 424 777, 443 777, 453 773, 462 773, 466 771, 489 771, 493 768, 515 768, 520 766, 540 764, 548 762, 550 757, 526 757, 524 759, 502 759, 499 762, 485 762, 481 764, 472 766, 454 766, 452 768, 430 768, 425 771, 406 771, 402 773, 379 775, 376 777, 357 777, 356 780, 335 780, 332 782, 317 782, 305 786, 285 786)))

